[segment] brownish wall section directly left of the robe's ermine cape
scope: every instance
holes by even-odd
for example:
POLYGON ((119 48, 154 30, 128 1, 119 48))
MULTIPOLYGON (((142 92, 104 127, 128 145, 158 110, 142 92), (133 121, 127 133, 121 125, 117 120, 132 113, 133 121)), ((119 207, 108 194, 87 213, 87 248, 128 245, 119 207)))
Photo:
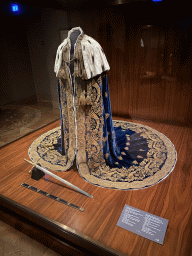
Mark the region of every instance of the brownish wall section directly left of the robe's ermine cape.
POLYGON ((27 22, 27 39, 37 98, 59 108, 54 64, 61 44, 60 31, 68 30, 67 13, 38 8, 35 14, 27 22))

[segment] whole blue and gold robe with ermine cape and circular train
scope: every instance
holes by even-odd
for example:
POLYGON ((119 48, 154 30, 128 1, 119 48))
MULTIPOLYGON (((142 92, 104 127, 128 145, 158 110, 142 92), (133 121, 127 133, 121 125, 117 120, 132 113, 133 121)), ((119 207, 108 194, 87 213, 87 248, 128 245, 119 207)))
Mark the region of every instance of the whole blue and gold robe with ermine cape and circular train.
POLYGON ((76 160, 79 174, 101 187, 152 186, 173 170, 176 151, 154 129, 113 121, 102 47, 80 27, 58 47, 61 127, 42 134, 29 148, 31 160, 54 171, 67 171, 76 160))

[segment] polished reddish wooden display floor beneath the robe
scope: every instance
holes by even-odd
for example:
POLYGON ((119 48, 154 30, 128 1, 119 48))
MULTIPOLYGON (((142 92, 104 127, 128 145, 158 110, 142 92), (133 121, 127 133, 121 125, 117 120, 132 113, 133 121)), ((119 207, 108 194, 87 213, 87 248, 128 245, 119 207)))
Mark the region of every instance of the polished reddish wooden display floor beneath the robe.
MULTIPOLYGON (((114 118, 115 119, 115 118, 114 118)), ((59 126, 54 122, 0 149, 0 194, 57 221, 76 234, 115 250, 118 255, 192 255, 192 128, 136 121, 165 134, 177 150, 173 172, 159 184, 136 191, 100 188, 84 181, 74 167, 56 173, 93 195, 93 199, 62 185, 57 180, 32 180, 28 158, 31 143, 44 132, 59 126), (21 187, 28 183, 83 207, 80 212, 21 187), (160 245, 116 226, 125 204, 169 220, 164 244, 160 245)))

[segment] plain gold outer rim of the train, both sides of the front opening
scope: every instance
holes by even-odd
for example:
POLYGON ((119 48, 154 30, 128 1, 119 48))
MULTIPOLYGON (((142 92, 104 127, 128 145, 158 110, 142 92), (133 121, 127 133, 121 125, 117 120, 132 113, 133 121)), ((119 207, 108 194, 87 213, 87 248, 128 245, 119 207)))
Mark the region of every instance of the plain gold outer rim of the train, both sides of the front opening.
MULTIPOLYGON (((167 150, 167 159, 165 161, 164 166, 161 168, 160 171, 156 172, 153 176, 146 178, 144 181, 133 181, 133 182, 129 183, 129 182, 113 182, 113 181, 108 181, 108 180, 101 180, 101 179, 91 175, 89 172, 88 165, 86 163, 81 162, 79 165, 79 174, 81 175, 81 177, 83 177, 86 181, 88 181, 94 185, 101 186, 101 187, 128 190, 128 189, 140 189, 140 188, 145 188, 145 187, 155 185, 159 181, 165 179, 171 173, 171 171, 174 169, 174 166, 176 164, 177 153, 175 151, 174 145, 171 143, 171 141, 165 135, 163 135, 162 133, 160 133, 148 126, 144 126, 144 125, 140 125, 140 124, 134 124, 134 123, 126 122, 126 121, 113 121, 113 123, 114 123, 114 126, 120 125, 122 128, 129 127, 130 129, 135 129, 135 131, 137 131, 137 132, 140 132, 141 130, 143 131, 143 128, 144 128, 147 131, 150 131, 150 133, 159 136, 160 139, 164 142, 164 144, 166 146, 166 150, 167 150)), ((37 138, 32 143, 32 145, 29 149, 29 155, 32 160, 34 160, 34 157, 39 158, 39 154, 37 151, 38 145, 40 145, 42 143, 42 141, 46 137, 49 137, 49 136, 51 136, 51 138, 47 141, 47 143, 50 143, 51 139, 53 139, 53 140, 55 139, 53 134, 57 131, 59 133, 60 127, 55 128, 55 129, 41 135, 39 138, 37 138)), ((55 136, 57 137, 58 134, 55 136)), ((129 138, 129 137, 127 137, 127 138, 129 138)), ((127 141, 128 140, 129 139, 127 139, 127 141)), ((66 156, 58 155, 57 152, 52 149, 52 157, 53 157, 53 155, 54 155, 55 159, 57 159, 57 158, 59 159, 60 163, 61 163, 61 161, 63 161, 63 162, 66 161, 66 158, 65 158, 66 156)), ((42 166, 49 168, 50 170, 65 171, 66 167, 67 167, 67 166, 61 166, 60 164, 57 165, 57 164, 53 164, 50 162, 46 162, 42 159, 40 159, 39 163, 42 166)), ((101 163, 101 166, 106 168, 105 171, 113 172, 114 168, 105 166, 104 163, 101 163)), ((138 166, 138 168, 139 168, 139 166, 138 166)), ((123 171, 125 172, 125 174, 127 173, 126 168, 122 168, 122 174, 123 174, 123 171)))

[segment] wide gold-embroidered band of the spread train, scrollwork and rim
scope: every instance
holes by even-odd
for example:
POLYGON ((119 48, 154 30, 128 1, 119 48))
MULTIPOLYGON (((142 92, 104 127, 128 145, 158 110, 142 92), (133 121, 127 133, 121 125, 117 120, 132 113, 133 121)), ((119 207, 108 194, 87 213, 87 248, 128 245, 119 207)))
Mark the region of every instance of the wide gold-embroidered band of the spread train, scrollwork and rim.
MULTIPOLYGON (((114 121, 114 127, 119 125, 119 122, 120 121, 114 121)), ((146 156, 146 158, 144 158, 140 163, 134 160, 133 163, 135 165, 132 165, 129 168, 110 168, 106 165, 101 151, 99 152, 101 147, 98 145, 97 141, 95 141, 92 136, 87 136, 87 138, 90 138, 91 140, 91 143, 89 144, 91 150, 88 159, 89 157, 92 158, 88 160, 88 163, 84 162, 79 165, 79 172, 87 181, 104 187, 115 187, 119 189, 141 188, 157 183, 163 179, 163 177, 167 176, 172 170, 176 161, 175 149, 171 142, 163 134, 160 134, 157 131, 154 133, 151 128, 144 128, 138 124, 122 122, 122 125, 125 126, 125 124, 127 125, 128 129, 135 132, 139 131, 139 134, 141 130, 143 132, 143 129, 146 129, 145 132, 143 132, 143 137, 146 138, 148 145, 151 145, 152 147, 149 150, 148 156, 146 156), (156 134, 158 134, 158 136, 156 134), (168 151, 166 148, 168 148, 168 151), (97 156, 98 152, 99 154, 97 156), (100 160, 97 161, 97 158, 100 160), (163 165, 164 161, 165 164, 163 165), (160 169, 162 165, 163 169, 160 169)), ((55 138, 60 136, 59 134, 59 128, 55 128, 39 137, 29 149, 30 155, 33 154, 32 158, 34 159, 35 154, 39 154, 39 150, 42 150, 41 147, 38 147, 40 143, 42 144, 42 142, 45 141, 46 143, 51 143, 51 140, 54 141, 55 138)), ((86 147, 86 152, 89 152, 88 145, 86 147)), ((52 155, 50 156, 51 157, 48 158, 48 161, 50 162, 50 159, 54 159, 54 161, 50 163, 44 162, 43 166, 46 166, 52 170, 57 170, 58 166, 55 165, 55 163, 59 162, 59 164, 61 164, 61 170, 64 170, 65 166, 62 163, 63 156, 61 157, 57 151, 52 151, 52 155)), ((43 160, 41 159, 39 163, 41 164, 42 162, 43 160)), ((118 164, 118 162, 116 162, 116 164, 118 164)))

